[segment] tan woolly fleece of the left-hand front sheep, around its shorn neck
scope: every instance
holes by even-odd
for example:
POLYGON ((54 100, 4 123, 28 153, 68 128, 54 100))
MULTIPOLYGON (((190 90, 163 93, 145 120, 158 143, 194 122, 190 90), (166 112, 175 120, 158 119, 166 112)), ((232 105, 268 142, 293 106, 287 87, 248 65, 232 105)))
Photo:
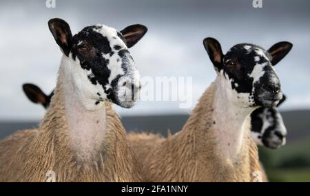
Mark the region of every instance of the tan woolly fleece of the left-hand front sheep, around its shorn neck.
POLYGON ((61 74, 39 128, 0 141, 0 182, 45 182, 50 170, 56 182, 139 182, 140 168, 109 103, 105 102, 105 141, 92 158, 81 159, 72 148, 61 74))

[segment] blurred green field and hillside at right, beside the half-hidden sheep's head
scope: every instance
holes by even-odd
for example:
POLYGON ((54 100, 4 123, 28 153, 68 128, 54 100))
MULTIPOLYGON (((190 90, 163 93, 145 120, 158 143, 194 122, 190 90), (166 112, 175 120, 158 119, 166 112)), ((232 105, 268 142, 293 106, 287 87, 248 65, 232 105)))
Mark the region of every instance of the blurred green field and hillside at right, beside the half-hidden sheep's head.
POLYGON ((282 112, 287 144, 279 149, 259 148, 270 182, 310 182, 310 111, 282 112))

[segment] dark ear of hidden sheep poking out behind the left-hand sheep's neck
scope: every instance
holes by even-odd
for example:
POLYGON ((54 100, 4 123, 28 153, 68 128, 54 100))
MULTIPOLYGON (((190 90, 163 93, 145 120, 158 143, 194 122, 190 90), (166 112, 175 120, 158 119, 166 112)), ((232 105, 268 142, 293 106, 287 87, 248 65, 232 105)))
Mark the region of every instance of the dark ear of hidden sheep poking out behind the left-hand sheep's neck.
POLYGON ((46 108, 48 96, 34 84, 23 84, 23 92, 35 104, 41 104, 46 108))

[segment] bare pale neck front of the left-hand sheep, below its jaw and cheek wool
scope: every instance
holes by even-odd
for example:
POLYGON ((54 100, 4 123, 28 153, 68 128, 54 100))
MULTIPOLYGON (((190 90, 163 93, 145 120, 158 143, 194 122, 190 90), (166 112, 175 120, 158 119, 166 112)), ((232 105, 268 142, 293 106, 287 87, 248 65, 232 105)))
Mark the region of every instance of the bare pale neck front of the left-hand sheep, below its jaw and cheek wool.
POLYGON ((61 102, 61 108, 65 113, 64 120, 67 129, 64 131, 68 135, 70 143, 68 147, 75 151, 77 159, 92 160, 98 156, 105 145, 107 111, 104 103, 101 103, 95 110, 87 110, 81 104, 76 95, 78 92, 74 88, 68 63, 70 63, 68 59, 63 57, 59 68, 59 82, 55 90, 55 94, 58 94, 55 96, 58 103, 53 103, 53 105, 61 102))

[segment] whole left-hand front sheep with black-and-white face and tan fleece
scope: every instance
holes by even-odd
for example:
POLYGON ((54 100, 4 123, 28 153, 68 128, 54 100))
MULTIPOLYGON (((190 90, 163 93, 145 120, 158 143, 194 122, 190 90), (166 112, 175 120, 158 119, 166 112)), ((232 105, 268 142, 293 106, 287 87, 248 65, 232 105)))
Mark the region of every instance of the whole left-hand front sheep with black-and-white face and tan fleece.
POLYGON ((141 168, 111 103, 132 108, 140 75, 127 48, 147 32, 87 26, 72 36, 62 19, 48 26, 63 52, 50 107, 39 128, 0 141, 1 182, 138 182, 141 168))

